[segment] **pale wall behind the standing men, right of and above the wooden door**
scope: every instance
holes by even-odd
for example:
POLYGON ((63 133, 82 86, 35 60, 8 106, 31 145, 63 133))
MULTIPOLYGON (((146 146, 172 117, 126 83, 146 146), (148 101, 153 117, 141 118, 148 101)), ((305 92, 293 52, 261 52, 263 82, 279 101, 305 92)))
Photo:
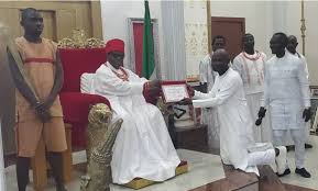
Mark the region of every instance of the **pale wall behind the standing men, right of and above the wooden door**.
MULTIPOLYGON (((245 32, 255 36, 255 48, 271 57, 268 42, 273 33, 298 37, 301 53, 300 1, 211 1, 212 16, 245 18, 245 32)), ((310 85, 318 86, 318 1, 305 1, 306 58, 310 85)))

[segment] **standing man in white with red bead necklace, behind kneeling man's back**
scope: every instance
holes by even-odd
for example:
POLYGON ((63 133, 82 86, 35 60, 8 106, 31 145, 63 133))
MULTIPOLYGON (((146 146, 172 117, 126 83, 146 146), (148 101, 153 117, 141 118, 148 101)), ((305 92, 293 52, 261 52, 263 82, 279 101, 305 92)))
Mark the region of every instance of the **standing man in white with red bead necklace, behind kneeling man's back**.
MULTIPOLYGON (((255 50, 254 44, 254 36, 252 34, 248 33, 243 36, 243 52, 234 58, 232 68, 240 74, 243 80, 248 105, 253 121, 256 121, 261 100, 264 96, 264 65, 266 55, 255 50)), ((263 119, 262 126, 254 126, 253 132, 256 142, 272 142, 268 116, 263 119)))

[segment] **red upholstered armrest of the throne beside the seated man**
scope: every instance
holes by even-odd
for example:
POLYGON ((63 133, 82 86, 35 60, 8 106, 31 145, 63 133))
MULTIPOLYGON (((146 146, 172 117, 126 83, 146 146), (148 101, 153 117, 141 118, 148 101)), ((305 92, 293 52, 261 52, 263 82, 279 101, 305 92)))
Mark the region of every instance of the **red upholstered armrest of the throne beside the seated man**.
POLYGON ((90 106, 97 103, 105 103, 109 108, 109 101, 97 94, 87 94, 80 92, 62 92, 59 93, 61 104, 66 123, 88 123, 88 112, 90 106))

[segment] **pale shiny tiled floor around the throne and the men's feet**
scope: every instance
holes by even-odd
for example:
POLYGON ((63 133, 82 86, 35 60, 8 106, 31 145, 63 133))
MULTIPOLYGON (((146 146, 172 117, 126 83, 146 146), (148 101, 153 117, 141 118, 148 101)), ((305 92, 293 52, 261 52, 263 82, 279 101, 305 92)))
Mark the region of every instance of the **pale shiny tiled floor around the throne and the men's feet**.
MULTIPOLYGON (((295 165, 294 165, 294 151, 288 153, 289 167, 292 169, 292 173, 281 180, 285 184, 281 184, 282 190, 286 191, 318 191, 318 136, 310 136, 310 143, 314 148, 306 149, 306 167, 311 172, 310 179, 304 179, 294 173, 295 165), (307 189, 306 189, 307 188, 307 189)), ((207 151, 207 150, 205 150, 207 151)), ((220 157, 212 154, 193 151, 187 149, 178 149, 178 154, 182 159, 185 159, 189 162, 189 172, 186 175, 178 176, 163 183, 157 183, 140 191, 187 191, 195 189, 196 191, 224 191, 224 187, 228 188, 230 186, 229 179, 224 179, 226 175, 223 172, 223 167, 220 161, 220 157), (212 183, 210 183, 212 182, 212 183)), ((74 162, 83 162, 86 160, 86 156, 84 153, 77 153, 74 155, 74 162)), ((265 169, 266 171, 266 169, 265 169)), ((268 170, 267 170, 268 171, 268 170)), ((227 177, 229 176, 228 170, 226 170, 227 177)), ((80 180, 79 177, 84 175, 81 170, 74 171, 74 179, 72 182, 67 184, 69 191, 79 191, 80 180)), ((270 175, 270 172, 267 173, 270 175)), ((231 175, 233 176, 233 180, 239 180, 244 177, 242 175, 231 175)), ((17 180, 15 180, 15 167, 10 166, 6 169, 7 177, 7 191, 17 191, 17 180)), ((273 182, 276 182, 276 186, 279 184, 277 179, 274 180, 274 176, 272 176, 273 182)), ((271 187, 271 176, 265 178, 260 178, 260 191, 272 191, 271 187), (267 186, 266 186, 267 184, 267 186), (268 187, 268 184, 271 187, 268 187)), ((248 180, 249 178, 245 178, 248 180)), ((278 180, 279 181, 279 180, 278 180)), ((275 183, 274 182, 274 183, 275 183)), ((277 186, 278 187, 278 186, 277 186)), ((32 187, 29 188, 32 190, 32 187)), ((50 180, 50 186, 47 191, 54 191, 53 181, 50 180)), ((276 189, 274 189, 276 191, 276 189)), ((132 189, 123 188, 120 186, 111 186, 111 191, 132 191, 132 189)))

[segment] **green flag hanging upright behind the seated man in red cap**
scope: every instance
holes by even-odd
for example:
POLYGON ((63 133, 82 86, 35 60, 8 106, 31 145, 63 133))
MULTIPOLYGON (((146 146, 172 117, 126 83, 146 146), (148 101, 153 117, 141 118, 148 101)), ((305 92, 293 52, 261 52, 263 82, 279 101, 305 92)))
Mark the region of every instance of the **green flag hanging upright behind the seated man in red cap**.
POLYGON ((152 36, 152 23, 150 18, 149 1, 144 1, 144 24, 143 24, 143 45, 142 45, 142 77, 153 78, 155 75, 154 47, 152 36))

